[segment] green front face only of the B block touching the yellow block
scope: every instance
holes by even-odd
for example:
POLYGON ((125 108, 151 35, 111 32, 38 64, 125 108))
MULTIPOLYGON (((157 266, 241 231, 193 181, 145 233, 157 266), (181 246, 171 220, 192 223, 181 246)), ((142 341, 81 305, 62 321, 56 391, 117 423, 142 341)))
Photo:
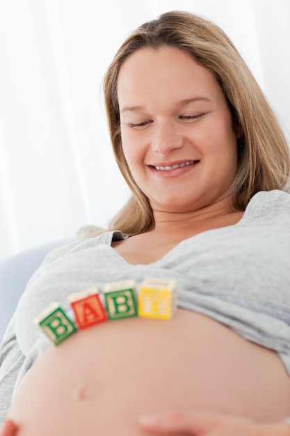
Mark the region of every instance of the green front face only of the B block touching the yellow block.
POLYGON ((121 318, 138 316, 133 288, 112 290, 104 293, 104 297, 109 320, 120 320, 121 318))

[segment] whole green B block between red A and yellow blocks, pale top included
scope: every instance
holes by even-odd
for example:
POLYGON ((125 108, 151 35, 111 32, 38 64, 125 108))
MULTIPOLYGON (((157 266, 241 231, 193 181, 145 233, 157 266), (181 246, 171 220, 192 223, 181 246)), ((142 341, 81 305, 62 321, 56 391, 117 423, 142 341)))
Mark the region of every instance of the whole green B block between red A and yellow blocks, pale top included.
POLYGON ((134 280, 108 283, 103 288, 109 320, 138 316, 134 280))

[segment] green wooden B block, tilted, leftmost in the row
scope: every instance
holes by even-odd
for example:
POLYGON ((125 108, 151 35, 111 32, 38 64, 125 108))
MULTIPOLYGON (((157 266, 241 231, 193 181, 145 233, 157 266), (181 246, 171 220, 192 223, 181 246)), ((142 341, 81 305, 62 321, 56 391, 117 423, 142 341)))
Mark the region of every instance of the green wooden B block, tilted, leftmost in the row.
POLYGON ((67 316, 58 304, 51 304, 42 311, 35 319, 35 324, 40 325, 49 339, 58 345, 76 332, 74 322, 67 316))

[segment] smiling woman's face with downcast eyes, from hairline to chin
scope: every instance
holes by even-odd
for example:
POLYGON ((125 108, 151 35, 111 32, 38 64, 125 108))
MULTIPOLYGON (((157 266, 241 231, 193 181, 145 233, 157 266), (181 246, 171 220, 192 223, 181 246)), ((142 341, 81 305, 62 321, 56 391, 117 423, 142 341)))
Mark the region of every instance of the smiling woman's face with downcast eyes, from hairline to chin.
POLYGON ((153 210, 223 200, 236 175, 236 133, 214 75, 175 47, 140 49, 118 76, 124 156, 153 210))

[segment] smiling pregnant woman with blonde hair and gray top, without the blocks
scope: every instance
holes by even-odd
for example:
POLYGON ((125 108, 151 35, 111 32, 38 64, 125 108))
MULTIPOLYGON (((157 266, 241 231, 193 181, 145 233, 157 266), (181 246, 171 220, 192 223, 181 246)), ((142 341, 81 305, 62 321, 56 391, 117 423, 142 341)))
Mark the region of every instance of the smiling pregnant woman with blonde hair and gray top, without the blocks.
POLYGON ((290 159, 273 111, 225 33, 184 12, 129 36, 104 93, 132 196, 29 282, 1 348, 4 431, 290 435, 290 159), (33 325, 79 290, 134 279, 138 295, 146 277, 177 282, 170 320, 57 347, 33 325))

